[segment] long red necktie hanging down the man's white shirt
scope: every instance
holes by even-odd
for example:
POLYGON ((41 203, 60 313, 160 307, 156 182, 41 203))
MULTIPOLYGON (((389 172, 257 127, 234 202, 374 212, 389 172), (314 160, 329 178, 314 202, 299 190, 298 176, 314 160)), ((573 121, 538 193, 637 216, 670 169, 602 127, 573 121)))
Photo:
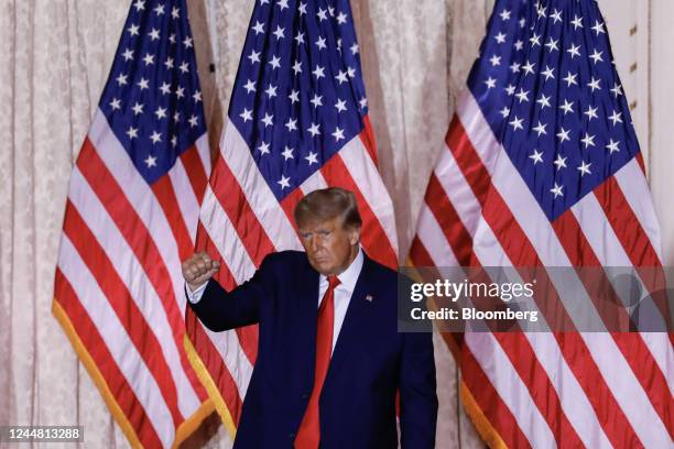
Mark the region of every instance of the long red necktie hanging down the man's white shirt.
POLYGON ((295 438, 295 449, 316 449, 320 441, 320 421, 318 419, 318 398, 325 382, 330 357, 333 354, 333 326, 335 322, 335 288, 339 285, 337 276, 328 276, 328 289, 318 307, 316 329, 316 374, 314 390, 309 397, 304 418, 295 438))

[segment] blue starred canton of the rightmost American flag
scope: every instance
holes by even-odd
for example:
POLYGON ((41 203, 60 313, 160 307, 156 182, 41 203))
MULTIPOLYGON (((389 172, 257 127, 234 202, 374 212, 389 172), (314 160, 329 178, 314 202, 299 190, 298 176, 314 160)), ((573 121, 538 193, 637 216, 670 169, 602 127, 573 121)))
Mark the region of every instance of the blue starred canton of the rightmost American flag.
POLYGON ((499 2, 468 80, 550 220, 640 151, 594 3, 499 2))

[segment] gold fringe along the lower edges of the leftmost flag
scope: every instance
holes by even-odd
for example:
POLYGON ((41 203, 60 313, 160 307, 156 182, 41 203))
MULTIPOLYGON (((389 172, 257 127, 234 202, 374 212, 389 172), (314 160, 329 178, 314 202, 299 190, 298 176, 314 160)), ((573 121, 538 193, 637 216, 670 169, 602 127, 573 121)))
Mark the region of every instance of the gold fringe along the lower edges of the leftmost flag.
MULTIPOLYGON (((65 332, 68 340, 70 340, 73 349, 75 349, 77 357, 85 365, 87 372, 89 373, 89 376, 91 376, 91 380, 96 384, 98 392, 100 393, 106 405, 108 406, 110 414, 112 415, 120 429, 129 440, 131 447, 142 448, 143 445, 140 442, 140 439, 138 438, 138 434, 133 429, 133 426, 131 426, 131 423, 129 423, 127 415, 124 415, 121 407, 117 403, 115 395, 112 394, 112 392, 110 392, 110 388, 108 387, 108 383, 106 382, 100 370, 96 365, 96 362, 94 362, 94 359, 89 354, 89 351, 87 351, 86 347, 81 342, 79 336, 77 335, 77 331, 75 331, 73 322, 68 318, 61 304, 58 304, 58 300, 56 298, 54 298, 54 302, 52 303, 52 314, 63 328, 63 331, 65 332)), ((173 442, 173 447, 177 448, 183 441, 185 441, 187 437, 189 437, 200 426, 202 421, 214 412, 214 408, 215 407, 210 399, 204 401, 199 408, 197 408, 197 410, 189 418, 185 419, 178 426, 175 431, 175 440, 173 442)))

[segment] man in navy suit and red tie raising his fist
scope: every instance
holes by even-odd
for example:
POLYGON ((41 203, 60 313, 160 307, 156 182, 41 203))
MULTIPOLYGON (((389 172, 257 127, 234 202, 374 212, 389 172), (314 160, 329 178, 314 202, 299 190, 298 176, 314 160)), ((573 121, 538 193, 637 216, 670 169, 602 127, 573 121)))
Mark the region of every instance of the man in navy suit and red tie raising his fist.
POLYGON ((398 332, 398 276, 360 249, 352 193, 316 190, 295 208, 305 252, 268 255, 226 292, 219 262, 183 263, 189 307, 214 331, 259 324, 237 448, 432 448, 437 396, 430 333, 398 332))

